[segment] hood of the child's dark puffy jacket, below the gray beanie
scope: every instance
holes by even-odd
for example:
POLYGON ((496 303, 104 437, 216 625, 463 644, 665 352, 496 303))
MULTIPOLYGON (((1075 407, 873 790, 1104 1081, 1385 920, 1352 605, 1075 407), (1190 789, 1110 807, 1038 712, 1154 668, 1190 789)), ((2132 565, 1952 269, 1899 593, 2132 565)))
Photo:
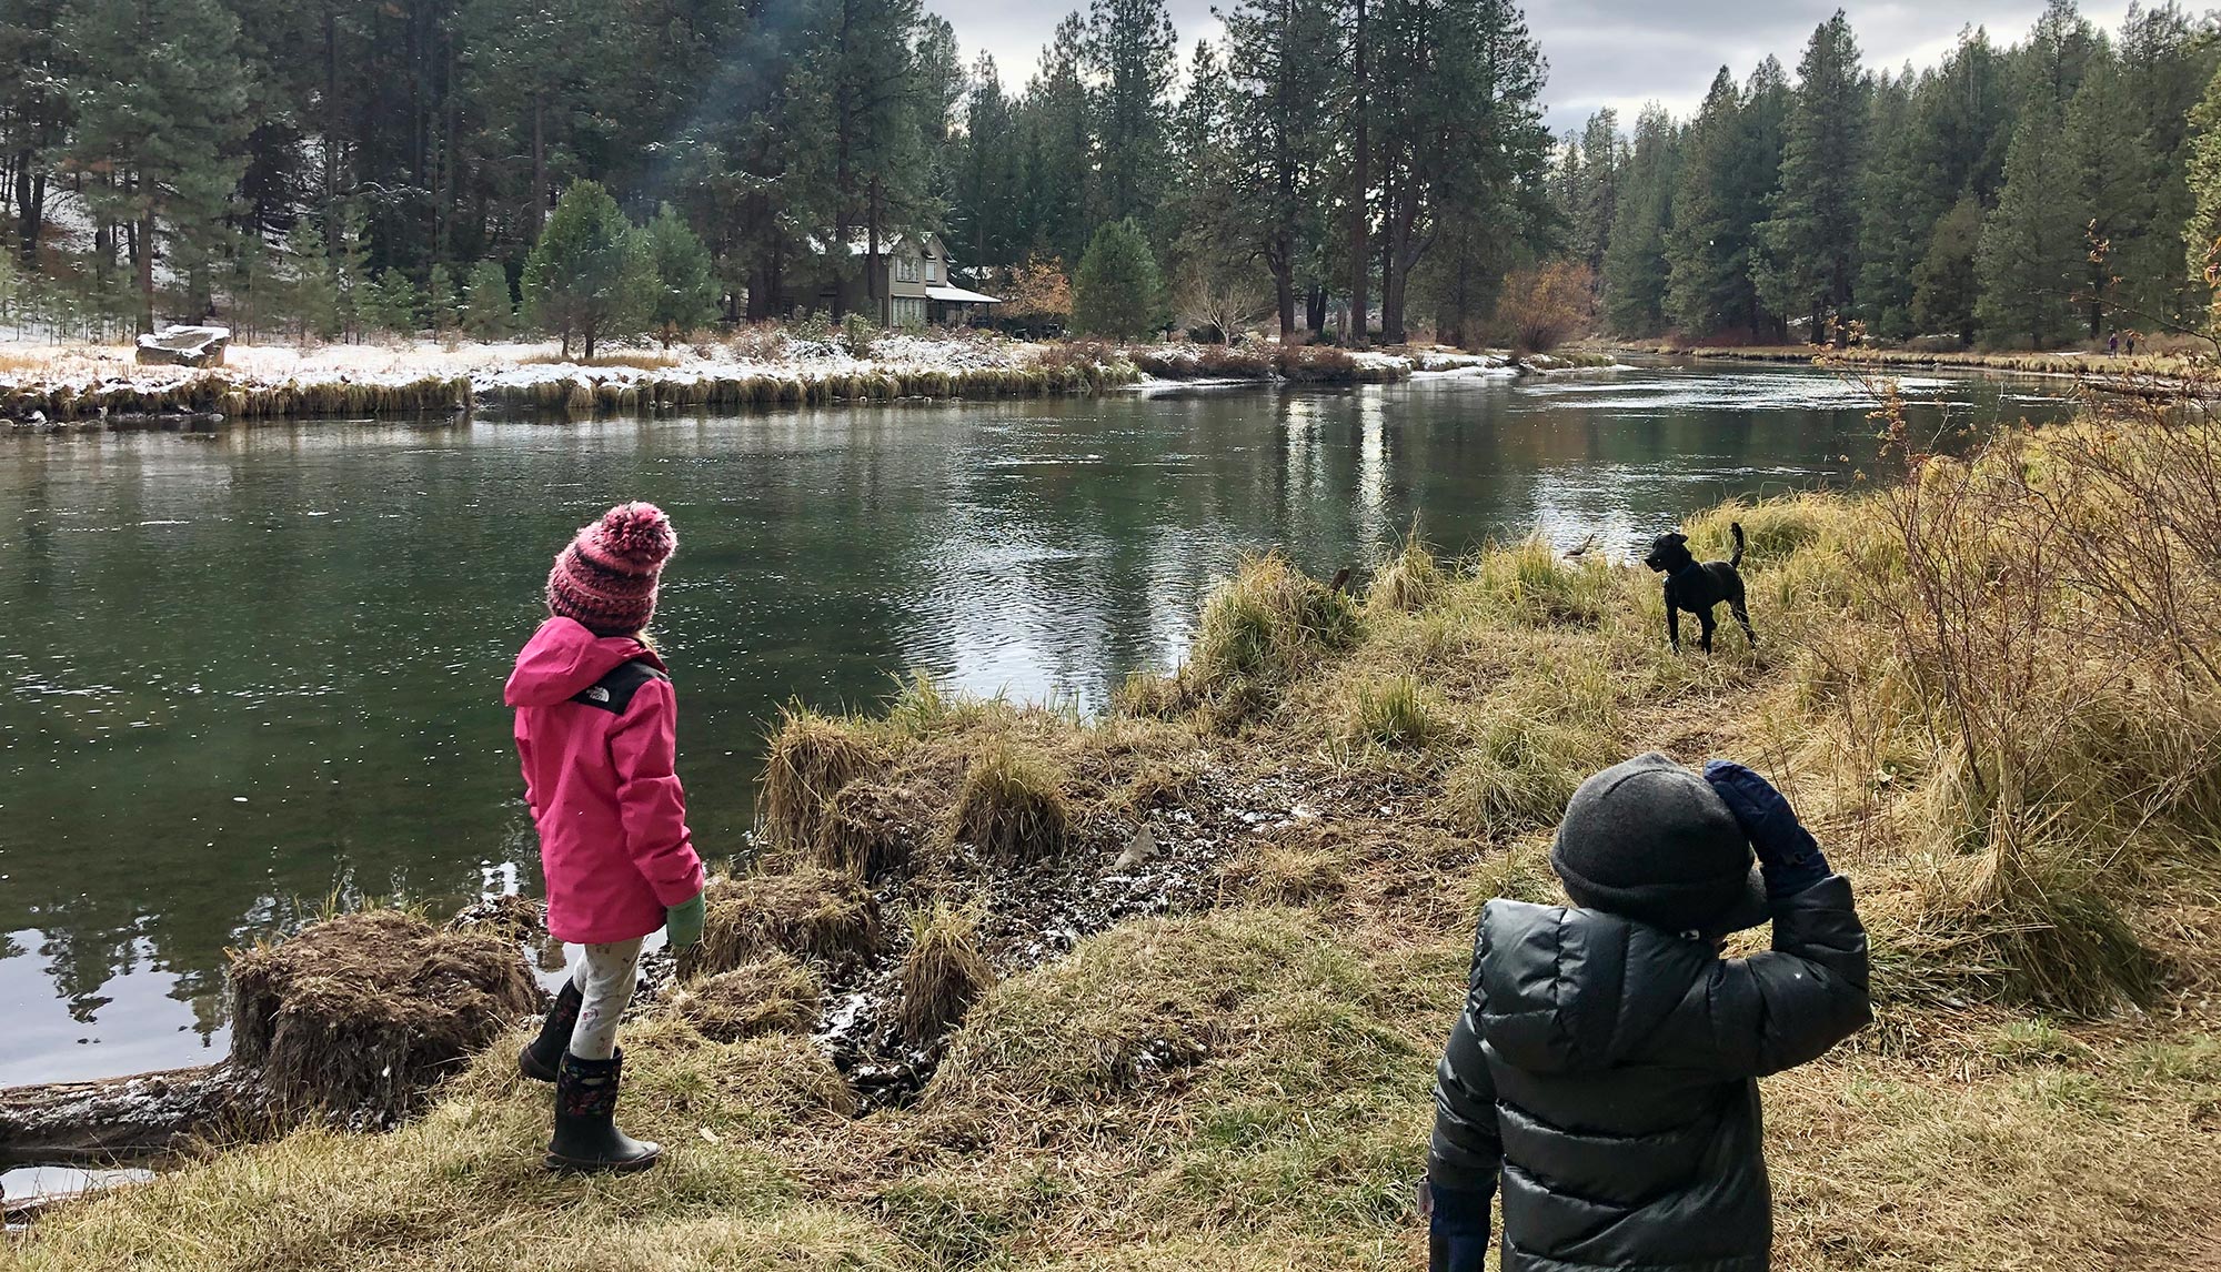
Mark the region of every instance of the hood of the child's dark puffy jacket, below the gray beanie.
POLYGON ((1528 1072, 1612 1068, 1717 957, 1708 941, 1601 910, 1488 901, 1481 1037, 1528 1072))

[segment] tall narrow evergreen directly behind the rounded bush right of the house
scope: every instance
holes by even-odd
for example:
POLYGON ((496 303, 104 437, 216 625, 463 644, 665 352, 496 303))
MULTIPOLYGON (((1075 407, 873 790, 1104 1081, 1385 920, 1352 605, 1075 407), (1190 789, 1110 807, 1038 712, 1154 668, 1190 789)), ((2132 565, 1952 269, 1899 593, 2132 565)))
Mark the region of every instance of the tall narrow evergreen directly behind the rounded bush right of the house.
POLYGON ((1082 44, 1095 89, 1102 218, 1137 222, 1164 191, 1168 98, 1177 58, 1164 0, 1095 0, 1082 44))

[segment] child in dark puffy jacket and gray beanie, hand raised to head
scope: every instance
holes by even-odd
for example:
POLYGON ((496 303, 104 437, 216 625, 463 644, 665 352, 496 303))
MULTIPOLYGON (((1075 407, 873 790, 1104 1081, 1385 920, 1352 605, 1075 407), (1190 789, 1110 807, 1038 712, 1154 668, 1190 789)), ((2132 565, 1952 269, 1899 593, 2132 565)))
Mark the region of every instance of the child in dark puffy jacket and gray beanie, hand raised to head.
POLYGON ((1577 908, 1481 908, 1435 1079, 1433 1272, 1479 1272, 1499 1181, 1504 1272, 1763 1272, 1757 1079, 1870 1019, 1850 884, 1763 777, 1657 753, 1575 790, 1550 864, 1577 908), (1770 952, 1721 957, 1768 919, 1770 952))

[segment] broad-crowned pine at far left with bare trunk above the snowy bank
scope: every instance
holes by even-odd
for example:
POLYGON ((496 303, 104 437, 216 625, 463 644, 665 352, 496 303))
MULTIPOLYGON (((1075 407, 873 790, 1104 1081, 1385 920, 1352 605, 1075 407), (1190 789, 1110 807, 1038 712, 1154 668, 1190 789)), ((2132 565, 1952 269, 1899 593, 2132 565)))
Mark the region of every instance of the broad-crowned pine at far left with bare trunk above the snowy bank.
POLYGON ((153 331, 162 226, 204 246, 244 171, 247 69, 218 0, 69 0, 58 38, 78 71, 71 162, 87 204, 135 231, 140 331, 153 331))

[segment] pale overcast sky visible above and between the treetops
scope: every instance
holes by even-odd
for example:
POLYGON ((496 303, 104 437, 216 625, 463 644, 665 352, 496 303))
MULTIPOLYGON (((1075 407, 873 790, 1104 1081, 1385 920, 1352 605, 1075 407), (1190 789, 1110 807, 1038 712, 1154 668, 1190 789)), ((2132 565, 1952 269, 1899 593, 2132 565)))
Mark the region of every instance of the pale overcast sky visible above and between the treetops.
MULTIPOLYGON (((926 0, 957 29, 964 60, 982 49, 995 55, 1006 89, 1024 87, 1042 44, 1073 0, 926 0)), ((1635 122, 1646 100, 1688 115, 1704 100, 1721 64, 1748 75, 1759 58, 1781 58, 1790 75, 1812 27, 1835 13, 1839 0, 1775 2, 1659 2, 1659 0, 1528 0, 1528 27, 1550 60, 1544 104, 1557 131, 1577 127, 1597 107, 1617 107, 1621 127, 1635 122)), ((1179 29, 1182 60, 1202 36, 1217 36, 1210 0, 1170 0, 1179 29)), ((1079 4, 1086 7, 1084 2, 1079 4)), ((1959 29, 1981 24, 1990 38, 2010 44, 2028 33, 2043 2, 1932 0, 1888 4, 1841 4, 1868 67, 1930 64, 1959 38, 1959 29)), ((2086 4, 2106 27, 2119 27, 2112 4, 2086 4)), ((2197 4, 2192 4, 2197 7, 2197 4)))

